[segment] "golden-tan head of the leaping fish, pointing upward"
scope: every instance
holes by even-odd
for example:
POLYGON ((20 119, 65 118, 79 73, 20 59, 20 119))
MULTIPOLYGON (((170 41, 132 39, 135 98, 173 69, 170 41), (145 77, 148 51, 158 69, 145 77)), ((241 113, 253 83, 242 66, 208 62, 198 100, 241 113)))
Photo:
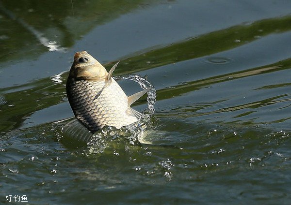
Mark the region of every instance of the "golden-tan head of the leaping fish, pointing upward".
POLYGON ((106 69, 86 51, 77 52, 71 66, 70 77, 79 79, 104 79, 107 76, 106 69))

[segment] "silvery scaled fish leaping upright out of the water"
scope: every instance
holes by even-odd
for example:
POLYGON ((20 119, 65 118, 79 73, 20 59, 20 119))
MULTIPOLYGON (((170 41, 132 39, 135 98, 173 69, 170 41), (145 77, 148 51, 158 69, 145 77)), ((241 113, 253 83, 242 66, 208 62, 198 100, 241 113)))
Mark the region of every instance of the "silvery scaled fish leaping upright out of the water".
POLYGON ((75 117, 92 133, 104 126, 120 129, 138 122, 142 114, 130 105, 149 89, 127 96, 112 73, 86 51, 77 52, 66 82, 68 102, 75 117))

